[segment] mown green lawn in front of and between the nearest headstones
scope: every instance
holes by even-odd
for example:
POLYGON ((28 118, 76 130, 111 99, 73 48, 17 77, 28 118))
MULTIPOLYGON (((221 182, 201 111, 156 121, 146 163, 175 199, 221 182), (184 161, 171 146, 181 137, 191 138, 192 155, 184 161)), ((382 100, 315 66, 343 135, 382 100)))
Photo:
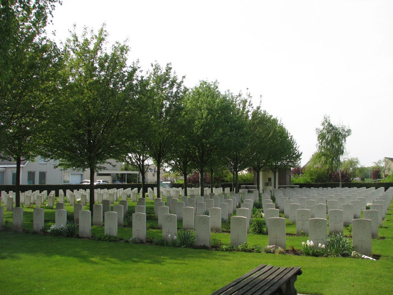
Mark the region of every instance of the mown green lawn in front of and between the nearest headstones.
MULTIPOLYGON (((151 212, 152 202, 147 205, 151 212)), ((71 206, 66 209, 72 211, 71 206)), ((295 284, 299 293, 391 294, 392 214, 389 210, 379 230, 385 239, 373 240, 373 254, 381 255, 379 261, 169 248, 0 231, 0 294, 209 294, 259 264, 301 266, 303 274, 295 284)), ((11 221, 11 213, 4 215, 11 221)), ((54 210, 45 210, 45 220, 49 229, 54 210)), ((24 228, 32 229, 31 208, 24 209, 24 228)), ((102 227, 92 231, 103 234, 102 227)), ((295 231, 294 225, 287 225, 288 234, 295 231)), ((129 239, 131 235, 130 228, 119 229, 119 237, 129 239)), ((159 237, 161 230, 149 229, 147 236, 159 237)), ((213 239, 225 244, 230 240, 229 234, 219 233, 212 233, 213 239)), ((307 237, 287 236, 287 248, 300 248, 305 240, 307 237)), ((267 236, 248 236, 251 246, 265 246, 267 241, 267 236)))

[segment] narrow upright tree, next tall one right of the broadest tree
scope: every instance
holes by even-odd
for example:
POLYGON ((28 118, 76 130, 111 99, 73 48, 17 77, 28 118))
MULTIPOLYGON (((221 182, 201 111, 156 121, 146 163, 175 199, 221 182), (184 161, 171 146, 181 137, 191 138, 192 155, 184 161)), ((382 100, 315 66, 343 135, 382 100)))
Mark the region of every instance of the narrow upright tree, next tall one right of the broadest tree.
POLYGON ((153 95, 148 96, 143 104, 149 116, 148 154, 157 162, 157 197, 160 198, 160 170, 165 158, 176 146, 174 135, 176 129, 181 128, 179 121, 182 112, 182 97, 185 92, 183 79, 172 73, 170 64, 165 69, 160 65, 151 65, 148 73, 150 90, 153 95))

